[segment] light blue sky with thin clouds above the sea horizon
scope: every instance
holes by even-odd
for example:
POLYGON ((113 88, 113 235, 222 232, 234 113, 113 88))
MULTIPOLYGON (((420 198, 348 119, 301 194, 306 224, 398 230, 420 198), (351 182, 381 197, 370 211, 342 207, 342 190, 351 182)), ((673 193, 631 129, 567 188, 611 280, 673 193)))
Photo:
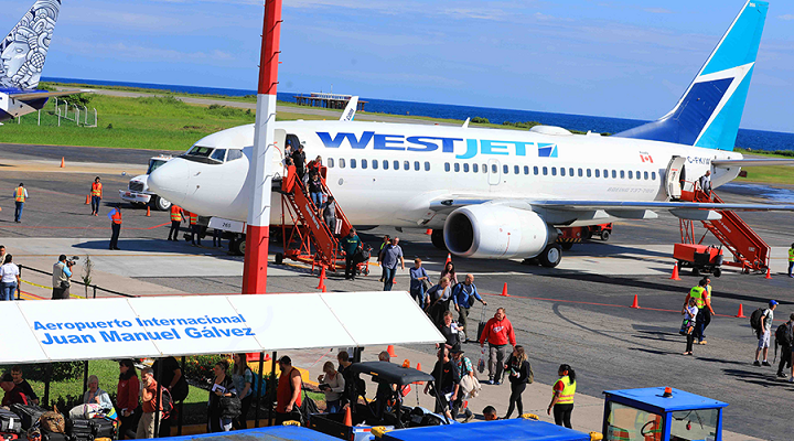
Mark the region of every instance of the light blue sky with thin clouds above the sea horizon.
MULTIPOLYGON (((0 29, 32 3, 0 0, 0 29)), ((63 3, 45 77, 256 89, 261 0, 63 3)), ((794 132, 794 1, 770 3, 742 127, 794 132)), ((651 120, 743 4, 283 0, 279 92, 651 120)))

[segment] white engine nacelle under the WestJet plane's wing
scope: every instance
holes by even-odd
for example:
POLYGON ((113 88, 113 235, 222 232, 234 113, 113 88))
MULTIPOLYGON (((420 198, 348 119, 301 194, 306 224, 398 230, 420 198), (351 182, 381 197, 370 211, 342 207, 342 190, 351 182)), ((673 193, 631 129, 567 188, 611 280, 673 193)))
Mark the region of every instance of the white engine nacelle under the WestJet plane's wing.
POLYGON ((537 213, 494 204, 455 209, 443 232, 450 251, 475 258, 530 258, 557 240, 557 229, 537 213))

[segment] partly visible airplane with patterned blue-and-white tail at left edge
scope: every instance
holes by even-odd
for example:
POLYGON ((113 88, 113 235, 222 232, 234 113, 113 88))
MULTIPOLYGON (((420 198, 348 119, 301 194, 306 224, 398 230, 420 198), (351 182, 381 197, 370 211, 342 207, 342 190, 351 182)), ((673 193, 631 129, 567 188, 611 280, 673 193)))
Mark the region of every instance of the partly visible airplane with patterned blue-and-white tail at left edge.
POLYGON ((88 90, 37 90, 61 0, 37 0, 0 42, 0 121, 41 110, 50 97, 88 90))

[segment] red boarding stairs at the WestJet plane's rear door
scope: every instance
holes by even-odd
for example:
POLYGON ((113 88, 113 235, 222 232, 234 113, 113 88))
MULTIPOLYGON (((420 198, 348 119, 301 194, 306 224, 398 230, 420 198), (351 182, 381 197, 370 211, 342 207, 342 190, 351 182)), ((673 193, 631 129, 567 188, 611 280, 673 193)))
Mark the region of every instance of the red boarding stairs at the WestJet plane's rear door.
MULTIPOLYGON (((706 193, 696 190, 684 194, 690 195, 691 202, 723 203, 715 192, 706 193)), ((718 209, 717 213, 722 216, 721 219, 702 220, 702 225, 733 255, 733 261, 726 261, 723 265, 739 267, 745 273, 750 271, 765 272, 770 265, 770 246, 734 212, 718 209)), ((684 228, 684 224, 682 224, 682 227, 684 228)), ((688 228, 691 230, 691 225, 688 228)), ((694 236, 687 236, 694 243, 694 236)), ((698 244, 702 243, 705 237, 706 234, 698 244)))

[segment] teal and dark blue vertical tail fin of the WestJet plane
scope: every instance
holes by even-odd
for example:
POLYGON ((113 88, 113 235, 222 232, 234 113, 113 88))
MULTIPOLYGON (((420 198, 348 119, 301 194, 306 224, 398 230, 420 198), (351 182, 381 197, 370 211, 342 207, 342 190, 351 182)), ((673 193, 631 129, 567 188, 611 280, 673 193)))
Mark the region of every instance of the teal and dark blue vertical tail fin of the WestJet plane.
POLYGON ((748 0, 676 107, 615 137, 733 150, 768 9, 748 0))

